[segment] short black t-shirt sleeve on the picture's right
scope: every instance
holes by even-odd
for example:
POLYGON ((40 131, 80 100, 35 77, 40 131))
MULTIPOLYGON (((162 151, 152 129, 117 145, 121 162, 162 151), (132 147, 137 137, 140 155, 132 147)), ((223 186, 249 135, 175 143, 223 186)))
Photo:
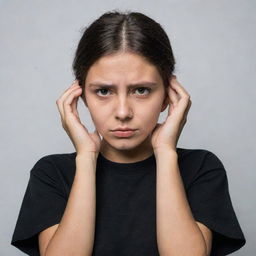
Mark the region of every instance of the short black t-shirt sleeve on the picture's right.
POLYGON ((210 256, 228 255, 245 245, 230 198, 226 170, 214 153, 206 151, 186 193, 195 220, 213 233, 210 256))

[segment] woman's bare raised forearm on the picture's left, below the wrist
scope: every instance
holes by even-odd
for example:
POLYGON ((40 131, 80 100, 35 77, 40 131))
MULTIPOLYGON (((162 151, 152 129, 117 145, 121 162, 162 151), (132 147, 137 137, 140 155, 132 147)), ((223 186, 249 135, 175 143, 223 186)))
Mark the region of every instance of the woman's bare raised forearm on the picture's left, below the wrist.
POLYGON ((46 256, 91 255, 95 232, 96 157, 77 156, 76 173, 61 222, 46 256))

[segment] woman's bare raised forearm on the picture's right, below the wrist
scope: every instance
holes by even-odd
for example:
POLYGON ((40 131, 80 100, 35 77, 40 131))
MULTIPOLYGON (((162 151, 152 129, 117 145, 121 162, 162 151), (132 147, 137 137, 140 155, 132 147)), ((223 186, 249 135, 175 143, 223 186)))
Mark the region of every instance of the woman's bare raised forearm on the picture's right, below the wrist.
POLYGON ((175 151, 156 153, 157 243, 161 256, 203 256, 206 244, 188 204, 175 151))

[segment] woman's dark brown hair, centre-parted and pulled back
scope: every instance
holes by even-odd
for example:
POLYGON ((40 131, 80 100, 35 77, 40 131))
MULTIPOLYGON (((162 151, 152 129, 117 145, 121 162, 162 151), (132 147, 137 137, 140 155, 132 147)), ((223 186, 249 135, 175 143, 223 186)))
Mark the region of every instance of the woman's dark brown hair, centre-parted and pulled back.
POLYGON ((140 12, 109 11, 88 27, 78 43, 73 71, 84 96, 87 72, 99 58, 118 52, 131 52, 156 66, 167 88, 175 59, 167 34, 159 23, 140 12))

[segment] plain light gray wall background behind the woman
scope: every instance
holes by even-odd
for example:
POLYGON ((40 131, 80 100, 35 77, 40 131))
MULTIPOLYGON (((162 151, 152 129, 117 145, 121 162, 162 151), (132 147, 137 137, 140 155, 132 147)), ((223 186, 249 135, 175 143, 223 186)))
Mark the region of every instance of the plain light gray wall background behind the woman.
MULTIPOLYGON (((166 30, 177 78, 192 99, 178 146, 207 149, 222 160, 247 239, 233 255, 254 255, 253 0, 0 1, 0 255, 24 255, 10 241, 34 163, 44 155, 74 152, 55 101, 74 79, 71 63, 81 30, 113 9, 143 12, 166 30)), ((93 131, 79 101, 81 119, 93 131)), ((166 115, 167 110, 159 121, 166 115)))

